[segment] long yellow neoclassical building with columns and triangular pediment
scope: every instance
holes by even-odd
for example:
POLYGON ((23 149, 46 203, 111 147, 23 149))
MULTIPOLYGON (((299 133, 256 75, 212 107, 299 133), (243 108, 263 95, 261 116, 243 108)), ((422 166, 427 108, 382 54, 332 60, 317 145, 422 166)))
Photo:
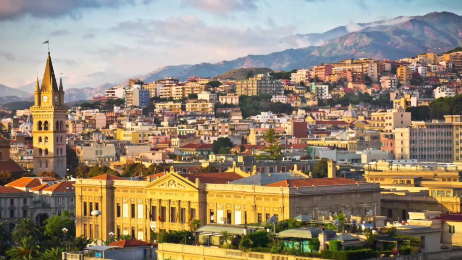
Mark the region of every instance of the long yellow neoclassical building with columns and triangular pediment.
POLYGON ((109 232, 149 240, 154 232, 187 230, 192 219, 207 223, 265 222, 380 208, 380 187, 343 178, 310 179, 294 167, 286 173, 246 173, 235 165, 220 173, 168 173, 143 180, 101 175, 78 179, 76 235, 107 239, 109 232), (367 208, 367 207, 366 207, 367 208), (100 216, 92 216, 93 210, 100 216))

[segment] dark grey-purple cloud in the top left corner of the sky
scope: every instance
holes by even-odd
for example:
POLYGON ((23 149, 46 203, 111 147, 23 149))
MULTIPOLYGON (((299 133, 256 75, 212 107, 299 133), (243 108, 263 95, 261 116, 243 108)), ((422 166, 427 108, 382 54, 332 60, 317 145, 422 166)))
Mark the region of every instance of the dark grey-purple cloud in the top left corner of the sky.
POLYGON ((83 9, 118 8, 123 5, 149 4, 150 0, 0 0, 0 21, 26 15, 37 18, 82 17, 83 9))

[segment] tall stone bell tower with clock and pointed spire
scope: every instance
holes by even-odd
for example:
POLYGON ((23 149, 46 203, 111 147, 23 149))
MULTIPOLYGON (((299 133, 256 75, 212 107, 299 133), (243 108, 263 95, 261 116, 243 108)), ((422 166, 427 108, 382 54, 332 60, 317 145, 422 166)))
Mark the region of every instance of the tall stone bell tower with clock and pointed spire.
POLYGON ((63 82, 56 82, 50 52, 48 52, 42 85, 37 78, 34 91, 34 174, 55 172, 66 175, 66 112, 63 82))

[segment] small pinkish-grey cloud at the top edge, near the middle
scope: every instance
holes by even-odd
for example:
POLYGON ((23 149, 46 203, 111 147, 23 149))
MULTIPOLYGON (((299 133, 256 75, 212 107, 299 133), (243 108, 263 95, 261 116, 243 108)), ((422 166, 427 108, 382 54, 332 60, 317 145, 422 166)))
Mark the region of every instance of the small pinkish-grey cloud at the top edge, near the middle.
POLYGON ((218 16, 227 16, 235 11, 257 10, 256 0, 183 0, 186 6, 192 6, 218 16))

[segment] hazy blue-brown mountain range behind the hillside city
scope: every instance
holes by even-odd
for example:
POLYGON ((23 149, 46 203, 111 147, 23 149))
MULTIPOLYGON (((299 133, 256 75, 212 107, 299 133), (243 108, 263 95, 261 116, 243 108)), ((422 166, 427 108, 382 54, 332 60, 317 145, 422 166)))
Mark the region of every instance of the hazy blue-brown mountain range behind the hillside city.
MULTIPOLYGON (((292 70, 308 68, 346 58, 400 59, 420 53, 443 53, 462 46, 462 16, 449 12, 433 12, 424 16, 396 17, 371 23, 349 24, 319 34, 296 34, 281 41, 297 41, 307 47, 287 49, 267 55, 247 55, 217 63, 170 65, 158 68, 144 76, 134 76, 144 82, 153 82, 165 76, 185 80, 189 76, 214 77, 239 68, 269 68, 292 70)), ((128 80, 120 79, 117 84, 128 80)), ((33 89, 35 82, 20 87, 33 89)), ((95 88, 65 89, 66 101, 88 100, 104 93, 112 86, 101 84, 95 88)), ((32 90, 9 88, 0 84, 0 96, 31 97, 32 90), (30 94, 29 94, 30 93, 30 94)), ((1 102, 1 100, 0 100, 1 102)))

